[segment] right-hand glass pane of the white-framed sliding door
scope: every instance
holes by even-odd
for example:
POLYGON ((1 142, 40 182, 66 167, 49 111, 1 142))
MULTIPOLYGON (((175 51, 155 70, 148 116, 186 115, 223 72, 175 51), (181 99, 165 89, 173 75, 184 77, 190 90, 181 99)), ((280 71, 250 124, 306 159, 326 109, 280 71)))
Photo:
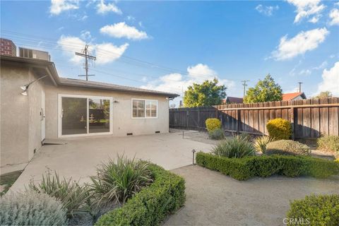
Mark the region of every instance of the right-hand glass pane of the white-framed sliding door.
POLYGON ((88 99, 90 133, 109 132, 109 100, 88 99))

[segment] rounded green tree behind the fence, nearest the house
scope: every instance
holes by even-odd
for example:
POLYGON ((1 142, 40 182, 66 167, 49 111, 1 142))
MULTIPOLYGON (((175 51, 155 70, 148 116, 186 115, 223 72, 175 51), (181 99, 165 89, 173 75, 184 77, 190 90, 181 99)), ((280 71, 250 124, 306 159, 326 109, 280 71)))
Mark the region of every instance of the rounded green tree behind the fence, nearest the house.
POLYGON ((220 105, 226 97, 226 89, 225 85, 218 85, 217 78, 202 84, 193 83, 185 91, 184 107, 220 105))

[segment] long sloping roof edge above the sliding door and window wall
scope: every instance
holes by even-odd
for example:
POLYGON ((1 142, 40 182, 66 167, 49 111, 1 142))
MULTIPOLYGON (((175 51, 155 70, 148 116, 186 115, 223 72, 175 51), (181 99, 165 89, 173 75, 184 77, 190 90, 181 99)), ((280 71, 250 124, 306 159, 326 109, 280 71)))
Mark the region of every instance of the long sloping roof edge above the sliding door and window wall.
POLYGON ((175 93, 166 93, 157 90, 146 90, 142 88, 135 88, 126 85, 115 85, 111 83, 100 83, 95 81, 84 81, 80 79, 73 78, 61 78, 59 77, 58 85, 66 86, 75 86, 81 88, 95 88, 100 90, 116 90, 122 92, 132 92, 132 93, 143 93, 143 94, 155 94, 155 95, 165 95, 167 97, 178 97, 179 95, 175 93))

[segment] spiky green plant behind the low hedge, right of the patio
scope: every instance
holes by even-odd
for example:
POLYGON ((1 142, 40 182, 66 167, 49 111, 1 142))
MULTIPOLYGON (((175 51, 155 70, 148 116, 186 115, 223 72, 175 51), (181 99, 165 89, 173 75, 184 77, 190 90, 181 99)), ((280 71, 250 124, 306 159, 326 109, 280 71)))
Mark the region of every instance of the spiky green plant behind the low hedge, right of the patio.
POLYGON ((225 157, 244 157, 254 155, 256 150, 246 136, 234 136, 221 141, 212 149, 215 155, 225 157))

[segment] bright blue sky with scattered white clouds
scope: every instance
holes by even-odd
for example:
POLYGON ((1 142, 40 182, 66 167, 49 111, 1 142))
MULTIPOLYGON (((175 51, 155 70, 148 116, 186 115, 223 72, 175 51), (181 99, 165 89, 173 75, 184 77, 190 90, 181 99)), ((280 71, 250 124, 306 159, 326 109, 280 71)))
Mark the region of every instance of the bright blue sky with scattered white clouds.
POLYGON ((1 1, 1 37, 48 51, 63 77, 84 73, 73 52, 88 43, 93 81, 181 94, 218 77, 242 97, 270 73, 284 92, 339 95, 338 1, 1 1))

